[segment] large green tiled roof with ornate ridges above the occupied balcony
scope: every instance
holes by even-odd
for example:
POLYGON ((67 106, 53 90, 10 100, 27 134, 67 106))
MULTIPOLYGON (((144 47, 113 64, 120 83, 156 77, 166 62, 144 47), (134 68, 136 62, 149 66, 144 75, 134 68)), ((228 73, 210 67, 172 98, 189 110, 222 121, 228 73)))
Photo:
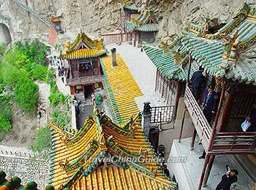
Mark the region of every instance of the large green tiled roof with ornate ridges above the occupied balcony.
POLYGON ((246 58, 255 53, 253 45, 256 42, 256 17, 249 15, 252 9, 255 7, 244 4, 244 8, 236 14, 233 20, 219 29, 217 34, 202 37, 203 27, 194 25, 185 28, 179 34, 181 45, 192 54, 192 58, 203 65, 209 75, 220 75, 240 83, 255 84, 255 61, 246 58), (228 61, 223 57, 225 54, 227 57, 233 55, 231 46, 236 31, 238 31, 237 38, 239 39, 238 59, 236 62, 228 61))

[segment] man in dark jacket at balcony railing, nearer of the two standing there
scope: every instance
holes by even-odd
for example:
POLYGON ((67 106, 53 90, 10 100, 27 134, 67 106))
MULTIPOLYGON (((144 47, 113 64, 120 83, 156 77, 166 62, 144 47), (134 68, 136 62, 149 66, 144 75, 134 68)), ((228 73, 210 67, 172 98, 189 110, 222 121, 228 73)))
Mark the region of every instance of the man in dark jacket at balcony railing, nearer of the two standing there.
POLYGON ((206 116, 208 123, 211 123, 212 115, 218 108, 218 96, 214 92, 213 86, 209 85, 203 102, 203 115, 206 116))

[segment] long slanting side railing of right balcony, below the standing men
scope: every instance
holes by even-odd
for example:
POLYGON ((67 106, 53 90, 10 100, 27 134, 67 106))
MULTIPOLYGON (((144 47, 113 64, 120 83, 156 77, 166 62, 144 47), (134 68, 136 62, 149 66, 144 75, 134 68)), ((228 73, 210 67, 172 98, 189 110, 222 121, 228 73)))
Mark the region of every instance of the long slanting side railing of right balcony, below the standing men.
POLYGON ((195 100, 189 86, 186 87, 184 102, 187 106, 187 110, 192 118, 192 122, 197 130, 197 134, 203 144, 203 147, 207 151, 212 129, 206 120, 206 117, 203 115, 203 110, 195 100))

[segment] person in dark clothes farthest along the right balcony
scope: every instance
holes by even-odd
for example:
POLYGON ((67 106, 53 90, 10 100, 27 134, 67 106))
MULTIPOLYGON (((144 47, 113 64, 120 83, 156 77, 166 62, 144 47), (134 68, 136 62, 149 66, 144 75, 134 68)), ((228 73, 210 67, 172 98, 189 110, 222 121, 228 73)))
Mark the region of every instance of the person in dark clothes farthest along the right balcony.
POLYGON ((205 76, 203 75, 203 67, 199 66, 197 72, 194 72, 191 77, 192 93, 195 100, 200 99, 201 91, 205 83, 205 76))

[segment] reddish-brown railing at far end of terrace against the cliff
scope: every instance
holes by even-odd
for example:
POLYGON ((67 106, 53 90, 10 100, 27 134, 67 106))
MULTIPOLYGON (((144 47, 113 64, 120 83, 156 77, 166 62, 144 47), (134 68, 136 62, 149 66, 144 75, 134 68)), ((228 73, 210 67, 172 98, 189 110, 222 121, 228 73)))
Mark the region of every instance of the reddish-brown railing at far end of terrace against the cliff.
POLYGON ((105 44, 112 44, 117 42, 129 42, 132 41, 131 33, 119 33, 119 34, 102 34, 105 44))

